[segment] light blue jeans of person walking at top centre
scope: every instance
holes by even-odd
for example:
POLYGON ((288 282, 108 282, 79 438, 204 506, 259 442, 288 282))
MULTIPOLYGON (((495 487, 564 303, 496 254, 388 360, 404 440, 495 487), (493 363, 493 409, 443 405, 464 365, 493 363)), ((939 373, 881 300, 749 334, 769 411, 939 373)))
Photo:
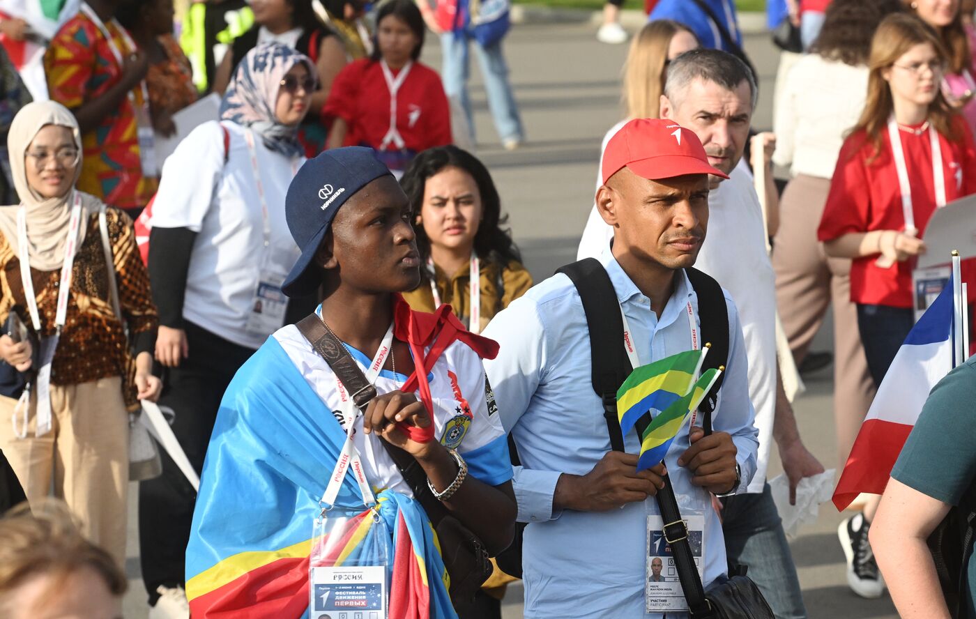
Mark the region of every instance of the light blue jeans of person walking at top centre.
POLYGON ((463 32, 445 32, 440 37, 443 67, 441 78, 444 93, 449 99, 458 100, 468 117, 471 143, 474 143, 474 122, 471 117, 471 100, 468 97, 468 43, 473 43, 481 65, 481 75, 488 94, 488 107, 495 120, 499 137, 505 140, 522 140, 522 120, 518 107, 508 84, 508 64, 502 55, 502 42, 483 48, 477 41, 471 41, 463 32))

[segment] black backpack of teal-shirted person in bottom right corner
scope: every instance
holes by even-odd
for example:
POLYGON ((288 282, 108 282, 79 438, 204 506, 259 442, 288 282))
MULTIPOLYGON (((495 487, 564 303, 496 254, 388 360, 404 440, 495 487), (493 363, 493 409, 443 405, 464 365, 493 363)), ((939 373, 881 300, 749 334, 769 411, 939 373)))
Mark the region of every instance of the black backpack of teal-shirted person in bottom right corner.
POLYGON ((928 537, 942 595, 956 619, 973 619, 966 611, 965 590, 969 557, 976 537, 976 484, 969 486, 959 504, 939 522, 928 537))

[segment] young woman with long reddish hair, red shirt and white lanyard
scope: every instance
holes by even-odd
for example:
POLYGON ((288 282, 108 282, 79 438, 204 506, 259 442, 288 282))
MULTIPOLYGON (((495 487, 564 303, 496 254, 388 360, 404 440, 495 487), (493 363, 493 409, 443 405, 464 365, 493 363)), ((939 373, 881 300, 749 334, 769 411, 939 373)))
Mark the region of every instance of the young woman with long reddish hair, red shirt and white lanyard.
POLYGON ((917 18, 881 22, 867 104, 840 149, 818 230, 829 256, 854 259, 851 301, 876 384, 915 322, 912 269, 925 226, 936 208, 976 191, 972 135, 939 89, 947 58, 917 18))

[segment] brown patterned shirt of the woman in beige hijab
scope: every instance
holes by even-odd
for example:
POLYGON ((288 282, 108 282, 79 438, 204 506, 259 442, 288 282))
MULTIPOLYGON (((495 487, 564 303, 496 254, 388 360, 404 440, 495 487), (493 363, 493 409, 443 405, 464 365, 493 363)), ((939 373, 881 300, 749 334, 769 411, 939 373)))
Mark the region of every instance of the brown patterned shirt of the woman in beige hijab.
MULTIPOLYGON (((134 354, 151 351, 155 342, 158 317, 149 293, 149 276, 136 246, 132 220, 111 207, 107 220, 119 305, 134 351, 130 351, 122 324, 112 309, 99 217, 92 215, 85 241, 74 259, 66 324, 51 367, 53 385, 77 385, 113 376, 120 376, 128 383, 134 354)), ((30 274, 37 295, 41 336, 54 335, 61 269, 31 268, 30 274)), ((20 259, 7 238, 0 234, 0 316, 6 316, 12 308, 33 330, 20 281, 20 259)))

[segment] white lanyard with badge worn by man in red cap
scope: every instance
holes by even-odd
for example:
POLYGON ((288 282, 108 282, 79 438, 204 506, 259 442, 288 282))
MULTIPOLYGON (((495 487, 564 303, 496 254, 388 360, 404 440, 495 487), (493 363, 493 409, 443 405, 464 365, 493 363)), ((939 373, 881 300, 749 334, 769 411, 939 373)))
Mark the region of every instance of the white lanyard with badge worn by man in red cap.
MULTIPOLYGON (((701 343, 698 341, 698 325, 695 321, 695 311, 691 307, 691 302, 685 305, 685 313, 688 317, 688 327, 691 331, 691 348, 693 351, 699 350, 701 343)), ((633 332, 627 320, 624 307, 620 309, 621 318, 624 322, 624 350, 630 359, 630 366, 634 369, 640 367, 640 357, 637 354, 636 344, 633 341, 633 332)), ((707 350, 706 350, 707 351, 707 350)), ((695 415, 689 415, 691 425, 695 424, 695 415)), ((704 558, 705 558, 705 515, 709 509, 707 501, 698 500, 695 496, 684 493, 674 493, 674 498, 678 502, 681 511, 681 519, 684 520, 688 530, 688 542, 691 546, 692 555, 695 558, 695 566, 698 568, 699 578, 704 577, 704 558)), ((681 588, 681 579, 677 575, 677 567, 668 541, 665 539, 664 518, 655 508, 653 500, 645 502, 647 509, 647 567, 644 579, 644 606, 649 613, 672 613, 688 612, 688 602, 684 598, 684 590, 681 588)))

